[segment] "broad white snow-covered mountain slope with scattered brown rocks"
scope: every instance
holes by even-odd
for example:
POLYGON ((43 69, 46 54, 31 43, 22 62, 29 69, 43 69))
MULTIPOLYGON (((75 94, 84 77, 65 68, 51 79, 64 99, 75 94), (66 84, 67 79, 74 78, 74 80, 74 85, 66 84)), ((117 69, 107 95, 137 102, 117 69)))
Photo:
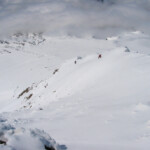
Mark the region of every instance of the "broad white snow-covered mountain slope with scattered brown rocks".
POLYGON ((149 149, 150 36, 42 39, 0 55, 1 122, 69 150, 149 149))

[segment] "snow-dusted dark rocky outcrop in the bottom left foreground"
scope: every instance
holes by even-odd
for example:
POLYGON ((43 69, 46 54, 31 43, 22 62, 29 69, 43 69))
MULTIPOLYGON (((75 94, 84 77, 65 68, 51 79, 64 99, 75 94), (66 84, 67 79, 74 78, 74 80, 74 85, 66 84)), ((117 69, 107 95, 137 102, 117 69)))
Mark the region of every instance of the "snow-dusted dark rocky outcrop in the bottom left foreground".
POLYGON ((66 150, 65 145, 59 145, 47 133, 38 129, 15 128, 0 120, 1 150, 66 150))

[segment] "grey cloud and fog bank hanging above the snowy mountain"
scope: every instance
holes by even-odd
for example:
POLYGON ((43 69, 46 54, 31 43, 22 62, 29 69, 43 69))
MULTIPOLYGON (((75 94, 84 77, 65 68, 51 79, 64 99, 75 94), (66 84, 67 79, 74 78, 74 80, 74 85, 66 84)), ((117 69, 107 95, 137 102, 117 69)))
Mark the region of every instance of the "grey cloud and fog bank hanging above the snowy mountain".
POLYGON ((45 32, 52 36, 106 37, 150 33, 150 0, 0 0, 0 36, 45 32))

